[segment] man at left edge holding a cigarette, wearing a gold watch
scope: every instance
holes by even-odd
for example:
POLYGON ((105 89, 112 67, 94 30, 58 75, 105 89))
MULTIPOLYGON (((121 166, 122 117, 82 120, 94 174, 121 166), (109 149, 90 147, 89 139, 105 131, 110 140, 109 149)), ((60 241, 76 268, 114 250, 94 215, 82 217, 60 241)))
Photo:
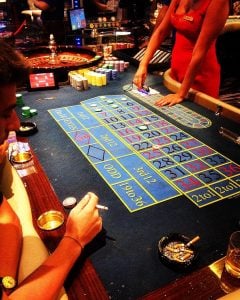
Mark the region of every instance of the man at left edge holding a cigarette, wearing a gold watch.
POLYGON ((0 41, 0 293, 1 299, 9 299, 10 295, 11 299, 50 300, 58 298, 64 281, 84 246, 100 232, 102 219, 96 208, 98 197, 87 193, 70 212, 65 234, 55 251, 38 264, 35 270, 27 272, 27 275, 21 274, 22 278, 17 282, 21 273, 19 265, 25 252, 23 236, 26 237, 27 232, 34 230, 28 231, 25 227, 26 224, 31 227, 29 212, 28 219, 25 220, 21 218, 24 214, 19 211, 22 207, 20 201, 25 197, 17 190, 20 178, 6 180, 9 177, 7 171, 14 173, 6 153, 9 131, 15 131, 20 126, 14 110, 16 84, 19 79, 27 76, 28 71, 26 59, 6 42, 0 41), (16 180, 19 182, 16 183, 16 180), (16 211, 9 198, 15 198, 18 206, 16 211))

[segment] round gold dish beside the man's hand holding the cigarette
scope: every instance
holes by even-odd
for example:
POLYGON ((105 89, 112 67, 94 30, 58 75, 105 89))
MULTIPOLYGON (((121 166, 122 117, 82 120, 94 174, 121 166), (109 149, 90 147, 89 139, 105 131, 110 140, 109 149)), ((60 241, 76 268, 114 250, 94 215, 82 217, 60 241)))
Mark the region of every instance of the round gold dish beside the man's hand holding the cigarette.
POLYGON ((43 230, 54 230, 64 223, 64 215, 57 210, 49 210, 37 219, 37 225, 43 230))

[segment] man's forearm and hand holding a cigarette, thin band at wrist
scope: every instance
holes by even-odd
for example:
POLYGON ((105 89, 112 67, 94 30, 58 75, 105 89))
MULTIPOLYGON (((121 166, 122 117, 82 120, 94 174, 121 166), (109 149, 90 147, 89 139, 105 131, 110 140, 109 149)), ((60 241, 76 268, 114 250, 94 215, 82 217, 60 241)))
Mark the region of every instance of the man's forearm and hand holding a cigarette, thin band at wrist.
POLYGON ((83 247, 102 228, 102 219, 96 208, 97 202, 98 197, 88 193, 72 209, 65 235, 56 250, 13 291, 9 296, 10 299, 52 300, 57 297, 83 247))

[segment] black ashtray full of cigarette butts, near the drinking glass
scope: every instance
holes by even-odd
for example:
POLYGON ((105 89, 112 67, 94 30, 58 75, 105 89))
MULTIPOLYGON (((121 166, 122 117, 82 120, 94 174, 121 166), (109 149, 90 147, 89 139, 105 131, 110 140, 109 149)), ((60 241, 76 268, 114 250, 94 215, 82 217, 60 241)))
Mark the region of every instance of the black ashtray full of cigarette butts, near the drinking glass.
POLYGON ((198 256, 198 251, 193 246, 193 243, 197 240, 199 240, 199 236, 190 239, 180 233, 171 233, 162 237, 158 242, 158 252, 161 261, 177 270, 189 268, 198 256))

